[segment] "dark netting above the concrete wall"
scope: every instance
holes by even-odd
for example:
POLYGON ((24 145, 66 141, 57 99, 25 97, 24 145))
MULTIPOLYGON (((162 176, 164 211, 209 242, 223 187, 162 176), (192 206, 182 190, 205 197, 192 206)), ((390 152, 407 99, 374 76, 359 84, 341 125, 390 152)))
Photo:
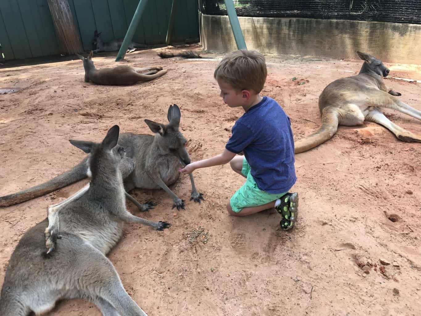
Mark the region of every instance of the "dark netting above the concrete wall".
MULTIPOLYGON (((199 0, 203 13, 226 15, 224 0, 199 0)), ((234 0, 238 16, 347 19, 421 24, 421 0, 234 0)))

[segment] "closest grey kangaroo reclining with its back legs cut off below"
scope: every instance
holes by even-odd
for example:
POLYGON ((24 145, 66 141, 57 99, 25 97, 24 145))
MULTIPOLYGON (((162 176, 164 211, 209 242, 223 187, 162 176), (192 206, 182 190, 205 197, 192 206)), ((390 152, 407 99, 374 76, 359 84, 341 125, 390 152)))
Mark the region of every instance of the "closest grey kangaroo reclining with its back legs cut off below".
POLYGON ((119 127, 109 129, 97 144, 72 140, 90 153, 89 186, 70 197, 60 209, 60 238, 55 251, 45 251, 48 219, 30 228, 20 239, 5 273, 0 295, 0 315, 25 316, 50 311, 58 300, 81 297, 95 303, 104 316, 145 316, 131 299, 105 256, 120 239, 124 222, 168 227, 133 216, 125 208, 122 172, 134 167, 117 143, 119 127), (120 170, 125 162, 126 170, 120 170))

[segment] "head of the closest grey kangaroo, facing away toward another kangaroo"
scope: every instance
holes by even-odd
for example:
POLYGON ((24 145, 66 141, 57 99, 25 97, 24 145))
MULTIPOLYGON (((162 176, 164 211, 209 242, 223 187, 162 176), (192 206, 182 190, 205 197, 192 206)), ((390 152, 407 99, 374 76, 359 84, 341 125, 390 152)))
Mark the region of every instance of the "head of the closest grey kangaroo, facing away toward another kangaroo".
POLYGON ((115 170, 121 159, 125 157, 124 148, 117 144, 120 128, 118 125, 109 129, 107 136, 101 143, 88 142, 84 140, 70 139, 69 142, 77 148, 89 153, 89 168, 92 172, 92 179, 97 174, 112 174, 115 176, 115 170))

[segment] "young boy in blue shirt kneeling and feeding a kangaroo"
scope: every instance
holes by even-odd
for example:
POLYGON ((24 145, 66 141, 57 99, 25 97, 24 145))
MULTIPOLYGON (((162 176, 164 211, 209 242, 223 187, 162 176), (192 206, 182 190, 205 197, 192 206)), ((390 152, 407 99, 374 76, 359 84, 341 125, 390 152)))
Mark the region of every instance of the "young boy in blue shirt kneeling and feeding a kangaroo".
POLYGON ((257 51, 234 51, 222 59, 213 76, 224 102, 242 107, 245 113, 232 127, 221 154, 190 163, 181 172, 230 162, 247 180, 226 205, 229 214, 244 216, 275 208, 282 216, 281 228, 292 228, 298 214, 298 194, 288 193, 296 182, 293 134, 280 105, 260 96, 267 76, 264 57, 257 51), (242 153, 244 158, 236 155, 242 153))

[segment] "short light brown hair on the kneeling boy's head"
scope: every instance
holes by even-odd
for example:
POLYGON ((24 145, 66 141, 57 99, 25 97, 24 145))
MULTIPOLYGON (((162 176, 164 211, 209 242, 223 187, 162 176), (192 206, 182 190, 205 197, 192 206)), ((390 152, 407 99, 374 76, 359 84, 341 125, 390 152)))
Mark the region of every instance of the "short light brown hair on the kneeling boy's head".
POLYGON ((240 49, 226 55, 218 64, 213 77, 224 80, 238 90, 253 90, 258 94, 266 81, 264 56, 258 51, 240 49))

